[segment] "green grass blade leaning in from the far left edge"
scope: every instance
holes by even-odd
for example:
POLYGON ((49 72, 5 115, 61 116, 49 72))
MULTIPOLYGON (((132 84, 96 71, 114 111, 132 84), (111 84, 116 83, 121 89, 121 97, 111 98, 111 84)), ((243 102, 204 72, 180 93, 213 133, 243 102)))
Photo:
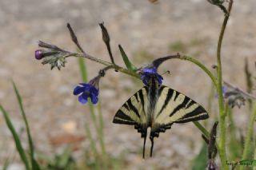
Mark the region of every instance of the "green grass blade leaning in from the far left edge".
POLYGON ((22 143, 21 143, 21 140, 19 139, 18 133, 16 132, 14 125, 10 121, 9 114, 6 112, 5 109, 3 109, 2 105, 0 105, 0 109, 2 111, 4 119, 6 121, 6 125, 8 126, 11 134, 14 137, 15 145, 18 150, 19 156, 21 157, 22 162, 25 164, 26 169, 30 170, 29 162, 26 159, 26 153, 25 153, 24 149, 22 148, 22 143))

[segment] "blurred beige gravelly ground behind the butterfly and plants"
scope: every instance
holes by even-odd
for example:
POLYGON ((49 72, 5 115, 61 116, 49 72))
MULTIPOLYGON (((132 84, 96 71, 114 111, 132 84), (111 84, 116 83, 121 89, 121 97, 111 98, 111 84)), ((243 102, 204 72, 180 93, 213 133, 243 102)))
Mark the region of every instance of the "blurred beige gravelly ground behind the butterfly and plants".
MULTIPOLYGON (((246 89, 244 60, 255 73, 256 2, 234 1, 234 9, 222 46, 223 79, 246 89)), ((34 59, 38 40, 75 51, 66 23, 70 22, 87 53, 109 61, 99 22, 110 34, 114 60, 123 65, 118 44, 138 67, 157 57, 177 52, 202 61, 208 68, 216 64, 215 55, 223 13, 206 0, 9 0, 0 1, 0 103, 10 113, 14 126, 27 147, 24 123, 18 110, 11 80, 23 97, 34 145, 38 152, 53 156, 71 144, 79 159, 89 148, 84 124, 90 124, 88 105, 78 103, 73 89, 79 82, 77 58, 69 58, 61 71, 50 70, 34 59), (67 140, 63 139, 76 139, 67 140)), ((103 67, 86 61, 89 79, 103 67)), ((206 109, 210 96, 210 78, 187 61, 166 61, 164 85, 193 98, 206 109)), ((211 69, 212 70, 212 69, 211 69)), ((101 81, 100 98, 108 154, 123 157, 126 169, 190 169, 201 148, 201 132, 192 124, 173 125, 155 140, 154 157, 142 160, 142 139, 134 127, 114 125, 119 107, 142 83, 122 73, 109 71, 101 81)), ((216 101, 211 101, 215 103, 216 101)), ((217 105, 215 105, 217 108, 217 105)), ((246 107, 235 109, 235 121, 242 132, 246 128, 246 107)), ((217 115, 216 111, 210 115, 217 115)), ((214 119, 208 121, 210 128, 214 119)), ((94 134, 94 132, 93 132, 94 134)), ((150 152, 150 141, 146 153, 150 152)), ((0 166, 12 157, 12 166, 22 168, 18 152, 0 114, 0 166)))

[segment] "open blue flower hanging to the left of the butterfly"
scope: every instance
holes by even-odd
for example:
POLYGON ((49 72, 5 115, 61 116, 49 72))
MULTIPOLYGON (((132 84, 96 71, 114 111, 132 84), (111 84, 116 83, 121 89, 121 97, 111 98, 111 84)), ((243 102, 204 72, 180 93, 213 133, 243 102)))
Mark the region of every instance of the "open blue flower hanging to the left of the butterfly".
POLYGON ((79 95, 78 101, 82 104, 86 104, 88 101, 88 97, 90 97, 90 101, 95 105, 98 103, 98 89, 95 88, 94 85, 80 83, 80 85, 74 88, 74 95, 79 95), (82 86, 80 86, 82 85, 82 86))

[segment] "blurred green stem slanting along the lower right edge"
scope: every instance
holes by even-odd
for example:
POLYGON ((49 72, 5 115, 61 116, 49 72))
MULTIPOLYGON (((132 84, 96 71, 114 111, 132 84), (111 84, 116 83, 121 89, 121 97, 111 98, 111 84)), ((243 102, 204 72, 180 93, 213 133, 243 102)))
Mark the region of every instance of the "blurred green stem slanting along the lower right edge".
MULTIPOLYGON (((254 102, 254 109, 253 112, 250 114, 250 119, 249 119, 249 124, 247 127, 247 132, 246 132, 246 141, 245 141, 245 148, 243 149, 242 152, 242 160, 248 159, 248 154, 250 152, 250 143, 253 138, 254 134, 254 121, 256 118, 256 103, 254 102)), ((243 170, 244 166, 240 167, 240 170, 243 170)))

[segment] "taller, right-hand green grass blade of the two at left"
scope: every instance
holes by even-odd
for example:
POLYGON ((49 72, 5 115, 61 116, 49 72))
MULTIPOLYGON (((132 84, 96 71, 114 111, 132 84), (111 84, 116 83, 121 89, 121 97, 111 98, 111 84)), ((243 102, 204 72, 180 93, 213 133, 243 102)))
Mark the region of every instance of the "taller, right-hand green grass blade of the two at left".
POLYGON ((30 145, 30 160, 31 160, 31 164, 32 164, 32 169, 40 170, 41 168, 39 167, 38 162, 34 159, 34 144, 33 144, 32 137, 30 135, 30 126, 26 120, 26 113, 25 113, 25 110, 24 110, 24 107, 22 104, 22 97, 21 97, 20 93, 18 92, 17 86, 15 85, 14 81, 13 81, 13 87, 14 87, 14 91, 15 91, 15 94, 16 94, 16 97, 18 100, 19 108, 22 113, 23 121, 25 122, 25 125, 26 125, 26 135, 28 137, 29 145, 30 145))

